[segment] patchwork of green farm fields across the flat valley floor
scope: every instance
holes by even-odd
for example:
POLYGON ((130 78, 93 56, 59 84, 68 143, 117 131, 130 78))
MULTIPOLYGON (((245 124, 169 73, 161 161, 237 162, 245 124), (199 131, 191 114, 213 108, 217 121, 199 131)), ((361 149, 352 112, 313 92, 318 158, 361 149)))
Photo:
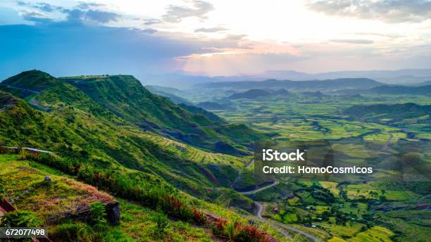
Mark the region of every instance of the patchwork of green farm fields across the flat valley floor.
MULTIPOLYGON (((430 163, 427 117, 354 117, 344 110, 351 106, 396 103, 429 105, 429 96, 363 94, 360 98, 325 95, 322 98, 289 94, 264 98, 225 98, 227 91, 211 91, 199 96, 188 92, 192 101, 209 101, 228 106, 225 110, 211 110, 228 122, 250 125, 270 134, 273 139, 289 141, 321 141, 332 145, 335 152, 344 153, 356 163, 361 160, 393 160, 404 144, 420 146, 420 156, 430 163)), ((253 172, 250 167, 249 172, 253 172)), ((430 234, 428 219, 415 219, 420 212, 409 210, 417 205, 430 204, 430 186, 425 182, 420 189, 413 184, 382 181, 385 168, 378 170, 367 182, 337 183, 285 181, 270 189, 252 194, 253 200, 266 204, 264 217, 291 225, 309 228, 311 234, 329 241, 408 241, 430 234), (396 210, 392 210, 396 209, 396 210), (381 212, 388 210, 390 212, 381 212), (413 215, 409 218, 408 215, 413 215), (384 221, 388 222, 384 222, 384 221), (412 221, 414 220, 414 222, 412 221), (390 221, 390 222, 389 222, 390 221), (396 222, 395 222, 396 221, 396 222), (420 225, 419 225, 420 224, 420 225), (418 232, 420 231, 420 232, 418 232)), ((248 178, 250 180, 250 177, 248 178)), ((251 181, 248 182, 250 184, 251 181)))

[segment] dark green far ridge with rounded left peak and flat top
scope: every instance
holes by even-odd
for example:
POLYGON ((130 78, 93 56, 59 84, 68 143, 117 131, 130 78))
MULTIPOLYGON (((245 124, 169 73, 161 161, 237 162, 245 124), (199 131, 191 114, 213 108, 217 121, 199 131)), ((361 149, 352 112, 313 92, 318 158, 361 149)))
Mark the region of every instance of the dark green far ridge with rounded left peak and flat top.
POLYGON ((111 121, 124 120, 170 139, 220 153, 247 154, 251 141, 264 137, 249 127, 225 124, 215 115, 189 112, 191 108, 186 110, 168 98, 151 94, 131 75, 56 79, 45 72, 31 70, 1 82, 0 89, 32 101, 33 105, 40 103, 42 109, 75 106, 94 115, 104 115, 111 121), (26 79, 29 81, 25 82, 26 79), (37 93, 31 92, 36 90, 37 93), (232 128, 242 128, 242 134, 247 135, 233 136, 226 132, 232 128), (220 142, 223 146, 218 145, 220 142))

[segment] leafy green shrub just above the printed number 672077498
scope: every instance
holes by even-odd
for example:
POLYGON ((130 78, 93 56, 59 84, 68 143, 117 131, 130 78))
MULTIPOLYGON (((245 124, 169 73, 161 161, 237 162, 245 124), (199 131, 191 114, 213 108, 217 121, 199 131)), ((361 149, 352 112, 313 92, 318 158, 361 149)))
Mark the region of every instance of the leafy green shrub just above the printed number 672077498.
POLYGON ((33 212, 7 212, 0 218, 1 227, 39 227, 40 224, 42 224, 42 220, 33 212))

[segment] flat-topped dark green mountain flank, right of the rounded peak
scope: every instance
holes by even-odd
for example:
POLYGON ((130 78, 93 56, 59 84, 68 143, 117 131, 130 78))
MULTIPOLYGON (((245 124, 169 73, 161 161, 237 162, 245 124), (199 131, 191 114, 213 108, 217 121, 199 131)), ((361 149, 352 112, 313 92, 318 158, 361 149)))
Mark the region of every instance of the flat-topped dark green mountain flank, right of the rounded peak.
MULTIPOLYGON (((63 77, 62 80, 84 91, 93 101, 111 110, 123 120, 171 139, 232 154, 244 153, 246 146, 251 145, 252 140, 245 139, 242 135, 233 136, 227 132, 223 134, 215 132, 215 127, 217 130, 223 130, 224 126, 208 120, 205 115, 190 113, 168 98, 151 94, 130 75, 63 77), (220 149, 216 146, 220 141, 232 148, 220 149)), ((253 129, 243 128, 243 132, 252 134, 254 139, 263 137, 253 129)))

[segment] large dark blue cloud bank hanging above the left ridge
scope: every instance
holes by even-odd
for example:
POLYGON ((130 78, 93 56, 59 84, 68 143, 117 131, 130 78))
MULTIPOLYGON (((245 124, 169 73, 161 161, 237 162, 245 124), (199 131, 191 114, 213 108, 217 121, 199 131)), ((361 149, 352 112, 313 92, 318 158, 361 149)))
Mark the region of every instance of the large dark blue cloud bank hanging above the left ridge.
POLYGON ((0 25, 0 79, 34 68, 56 76, 165 73, 176 56, 204 53, 199 39, 103 25, 0 25), (41 58, 41 56, 43 58, 41 58))

